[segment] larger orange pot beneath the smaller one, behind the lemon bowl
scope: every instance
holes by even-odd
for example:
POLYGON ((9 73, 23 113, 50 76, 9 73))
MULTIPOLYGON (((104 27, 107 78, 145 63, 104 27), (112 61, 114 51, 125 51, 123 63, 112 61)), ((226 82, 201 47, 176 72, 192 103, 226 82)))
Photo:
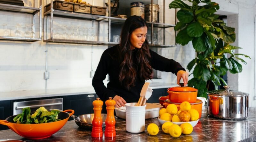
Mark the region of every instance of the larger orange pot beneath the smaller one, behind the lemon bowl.
MULTIPOLYGON (((164 102, 164 108, 166 108, 169 104, 175 104, 177 106, 178 110, 180 110, 180 104, 181 103, 170 102, 167 99, 164 102)), ((190 103, 190 105, 191 105, 191 109, 196 109, 198 111, 199 118, 201 118, 203 102, 201 100, 197 99, 195 103, 190 103)))

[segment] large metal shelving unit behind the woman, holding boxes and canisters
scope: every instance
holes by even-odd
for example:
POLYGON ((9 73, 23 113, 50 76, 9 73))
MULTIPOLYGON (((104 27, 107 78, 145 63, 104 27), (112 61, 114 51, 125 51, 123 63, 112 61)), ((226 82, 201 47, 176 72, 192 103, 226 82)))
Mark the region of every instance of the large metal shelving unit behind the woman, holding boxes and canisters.
MULTIPOLYGON (((165 0, 164 0, 165 1, 165 0)), ((108 0, 108 13, 111 13, 110 11, 110 0, 108 0)), ((153 4, 153 0, 151 0, 151 4, 153 4)), ((153 11, 153 7, 151 7, 151 11, 153 11)), ((110 14, 109 14, 110 15, 110 14)), ((152 15, 152 14, 151 14, 152 15)), ((153 19, 153 15, 151 17, 153 19)), ((118 42, 110 42, 110 28, 111 28, 111 23, 124 23, 126 19, 122 18, 116 18, 116 17, 110 17, 110 16, 101 16, 101 15, 92 15, 92 14, 86 14, 86 13, 77 13, 77 12, 71 12, 71 11, 61 11, 61 10, 55 10, 53 9, 53 0, 51 0, 51 9, 49 11, 44 11, 44 23, 46 21, 46 35, 48 31, 48 27, 50 28, 50 35, 49 38, 46 36, 46 39, 44 39, 44 42, 56 42, 56 43, 75 43, 75 44, 90 44, 90 45, 116 45, 118 42), (47 16, 50 16, 50 25, 48 25, 47 22, 47 16), (53 16, 56 17, 62 17, 62 18, 70 18, 70 19, 84 19, 84 20, 92 20, 98 22, 98 26, 100 22, 108 22, 108 42, 105 41, 82 41, 82 40, 66 40, 66 39, 56 39, 53 37, 53 16)), ((174 27, 175 25, 172 24, 165 24, 165 23, 156 23, 156 22, 147 22, 149 26, 151 26, 151 34, 153 39, 153 28, 158 27, 158 28, 169 28, 169 27, 174 27)), ((98 30, 98 35, 99 35, 99 30, 98 30)), ((165 32, 164 32, 165 35, 165 32)), ((175 47, 176 45, 153 45, 150 44, 150 47, 161 47, 161 48, 166 48, 166 47, 175 47)))

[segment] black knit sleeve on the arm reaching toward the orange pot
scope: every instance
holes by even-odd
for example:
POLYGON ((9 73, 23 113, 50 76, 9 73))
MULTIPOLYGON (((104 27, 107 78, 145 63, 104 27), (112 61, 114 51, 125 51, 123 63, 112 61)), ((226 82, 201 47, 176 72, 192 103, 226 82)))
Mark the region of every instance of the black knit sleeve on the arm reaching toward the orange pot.
POLYGON ((153 69, 158 71, 172 72, 177 75, 180 70, 186 71, 180 63, 174 61, 173 59, 168 59, 163 56, 158 55, 156 52, 149 50, 151 55, 150 64, 153 69))

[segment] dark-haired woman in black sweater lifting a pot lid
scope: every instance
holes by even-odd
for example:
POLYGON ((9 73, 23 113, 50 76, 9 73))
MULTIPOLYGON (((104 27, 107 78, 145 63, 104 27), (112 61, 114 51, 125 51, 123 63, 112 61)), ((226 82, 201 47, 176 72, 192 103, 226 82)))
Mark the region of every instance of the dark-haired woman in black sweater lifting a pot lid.
POLYGON ((177 84, 182 78, 187 85, 188 72, 178 62, 148 49, 147 31, 144 19, 131 16, 125 20, 120 44, 103 52, 92 78, 92 86, 102 101, 112 97, 116 108, 128 102, 138 102, 145 80, 152 78, 152 68, 175 73, 177 84), (103 80, 107 74, 109 82, 106 87, 103 80))

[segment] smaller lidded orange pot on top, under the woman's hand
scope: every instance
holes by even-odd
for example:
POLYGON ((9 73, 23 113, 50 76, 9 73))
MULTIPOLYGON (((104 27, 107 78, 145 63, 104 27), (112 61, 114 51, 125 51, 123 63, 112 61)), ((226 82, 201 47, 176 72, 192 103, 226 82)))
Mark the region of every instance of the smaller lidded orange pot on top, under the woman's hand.
POLYGON ((171 87, 168 88, 169 99, 171 102, 181 103, 188 101, 189 103, 195 103, 197 97, 197 89, 192 87, 171 87))

